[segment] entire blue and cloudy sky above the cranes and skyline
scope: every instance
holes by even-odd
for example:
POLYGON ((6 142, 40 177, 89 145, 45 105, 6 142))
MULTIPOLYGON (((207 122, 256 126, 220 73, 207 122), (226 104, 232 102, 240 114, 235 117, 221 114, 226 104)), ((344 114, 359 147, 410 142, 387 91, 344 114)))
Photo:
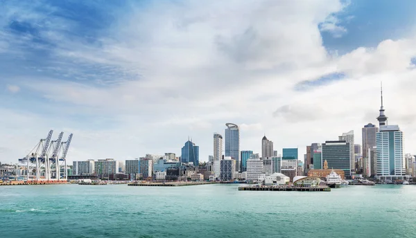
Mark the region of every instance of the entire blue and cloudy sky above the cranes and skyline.
POLYGON ((0 161, 50 129, 68 161, 176 153, 200 161, 240 127, 281 154, 376 124, 416 153, 416 1, 0 0, 0 161))

